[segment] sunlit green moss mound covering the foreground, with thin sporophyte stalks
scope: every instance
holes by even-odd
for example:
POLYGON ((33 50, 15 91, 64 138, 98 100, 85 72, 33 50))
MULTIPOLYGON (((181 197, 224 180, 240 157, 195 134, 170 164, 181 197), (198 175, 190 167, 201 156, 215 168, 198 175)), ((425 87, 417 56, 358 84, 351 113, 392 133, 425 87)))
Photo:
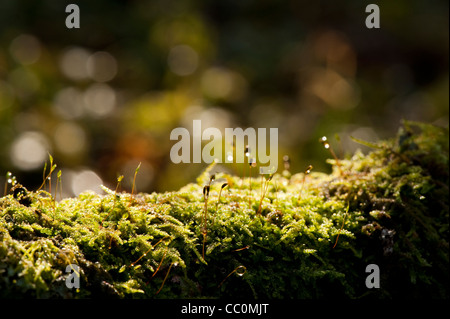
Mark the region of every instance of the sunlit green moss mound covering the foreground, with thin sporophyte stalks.
POLYGON ((37 191, 9 174, 0 296, 448 298, 448 129, 405 121, 392 140, 355 141, 372 151, 333 156, 331 174, 242 180, 211 165, 166 193, 120 192, 119 177, 58 201, 45 172, 37 191))

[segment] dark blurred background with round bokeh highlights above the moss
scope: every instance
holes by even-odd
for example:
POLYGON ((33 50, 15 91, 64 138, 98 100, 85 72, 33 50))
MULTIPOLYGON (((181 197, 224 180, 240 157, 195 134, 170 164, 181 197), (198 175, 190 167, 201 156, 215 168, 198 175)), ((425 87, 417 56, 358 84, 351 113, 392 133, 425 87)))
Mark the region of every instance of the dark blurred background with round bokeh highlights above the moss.
POLYGON ((279 172, 329 171, 323 135, 342 157, 402 118, 448 126, 448 1, 376 1, 367 29, 372 2, 1 0, 1 195, 8 171, 39 187, 49 153, 64 196, 130 191, 139 163, 137 191, 177 190, 207 166, 170 161, 193 119, 278 127, 279 172))

